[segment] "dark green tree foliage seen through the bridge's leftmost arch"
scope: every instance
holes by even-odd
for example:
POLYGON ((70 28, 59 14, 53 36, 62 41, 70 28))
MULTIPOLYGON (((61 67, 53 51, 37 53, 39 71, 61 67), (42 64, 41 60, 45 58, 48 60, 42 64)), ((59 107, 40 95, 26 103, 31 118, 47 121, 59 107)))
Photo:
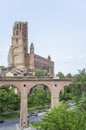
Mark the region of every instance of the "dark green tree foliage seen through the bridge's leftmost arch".
POLYGON ((20 95, 15 94, 14 88, 0 88, 0 113, 19 110, 20 95))

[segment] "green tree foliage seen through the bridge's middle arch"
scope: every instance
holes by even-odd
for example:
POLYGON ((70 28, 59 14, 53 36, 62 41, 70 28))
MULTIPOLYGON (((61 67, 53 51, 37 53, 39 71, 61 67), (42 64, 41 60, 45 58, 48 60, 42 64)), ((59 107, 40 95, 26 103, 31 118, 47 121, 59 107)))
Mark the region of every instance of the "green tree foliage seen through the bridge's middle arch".
POLYGON ((36 88, 28 97, 29 107, 50 104, 51 97, 48 89, 36 88))

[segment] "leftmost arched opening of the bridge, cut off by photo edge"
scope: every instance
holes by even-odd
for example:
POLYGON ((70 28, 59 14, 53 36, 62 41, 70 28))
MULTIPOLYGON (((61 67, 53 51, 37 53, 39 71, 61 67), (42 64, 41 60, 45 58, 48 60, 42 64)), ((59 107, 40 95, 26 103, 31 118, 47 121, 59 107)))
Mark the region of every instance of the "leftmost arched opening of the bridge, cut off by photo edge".
MULTIPOLYGON (((14 118, 19 123, 20 115, 20 90, 12 84, 3 84, 0 86, 0 119, 9 120, 11 123, 14 118)), ((6 121, 5 121, 6 122, 6 121)), ((9 123, 10 124, 10 123, 9 123)))

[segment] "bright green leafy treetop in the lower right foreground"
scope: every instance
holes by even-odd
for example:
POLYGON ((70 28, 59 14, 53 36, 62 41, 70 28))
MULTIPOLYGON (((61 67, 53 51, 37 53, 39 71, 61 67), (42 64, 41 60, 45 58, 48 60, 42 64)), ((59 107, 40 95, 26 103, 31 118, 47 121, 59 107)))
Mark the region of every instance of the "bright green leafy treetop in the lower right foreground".
POLYGON ((41 130, 85 130, 86 111, 71 110, 66 104, 59 103, 45 115, 40 127, 41 130))

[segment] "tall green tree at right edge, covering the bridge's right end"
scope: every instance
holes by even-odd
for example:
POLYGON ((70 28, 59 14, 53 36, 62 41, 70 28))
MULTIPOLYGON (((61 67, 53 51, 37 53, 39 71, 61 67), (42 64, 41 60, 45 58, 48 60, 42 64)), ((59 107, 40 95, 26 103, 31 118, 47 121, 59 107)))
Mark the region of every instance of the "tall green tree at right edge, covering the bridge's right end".
POLYGON ((72 83, 65 86, 64 94, 61 93, 60 99, 72 100, 86 110, 86 72, 81 71, 75 75, 72 83))

